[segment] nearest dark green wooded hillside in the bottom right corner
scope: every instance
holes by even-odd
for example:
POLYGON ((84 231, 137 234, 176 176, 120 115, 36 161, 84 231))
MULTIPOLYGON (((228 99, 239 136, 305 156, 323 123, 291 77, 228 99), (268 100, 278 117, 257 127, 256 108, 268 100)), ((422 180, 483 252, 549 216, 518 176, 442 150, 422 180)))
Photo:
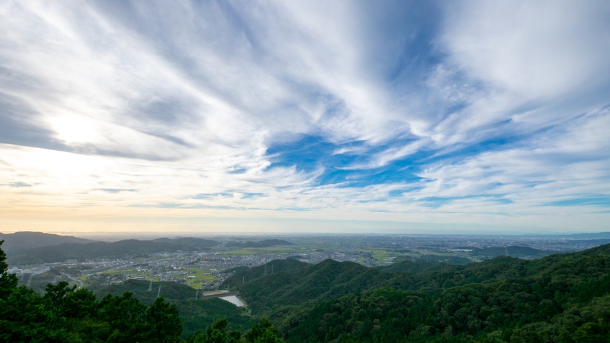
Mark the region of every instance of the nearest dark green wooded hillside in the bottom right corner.
MULTIPOLYGON (((610 256, 604 246, 515 264, 435 294, 379 288, 286 318, 288 342, 608 342, 610 256)), ((294 311, 295 313, 298 311, 294 311)))

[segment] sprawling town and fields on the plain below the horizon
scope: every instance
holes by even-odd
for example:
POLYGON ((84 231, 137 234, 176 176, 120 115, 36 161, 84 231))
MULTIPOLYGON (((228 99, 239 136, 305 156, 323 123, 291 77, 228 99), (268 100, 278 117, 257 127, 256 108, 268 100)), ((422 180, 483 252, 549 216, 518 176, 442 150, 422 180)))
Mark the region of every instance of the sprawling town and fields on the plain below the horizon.
MULTIPOLYGON (((179 282, 201 291, 221 289, 225 278, 236 270, 267 264, 274 272, 274 260, 293 259, 317 264, 331 259, 365 267, 383 267, 411 260, 421 263, 465 264, 496 256, 531 260, 552 253, 580 251, 603 244, 607 239, 536 236, 442 236, 442 235, 285 235, 212 236, 218 244, 194 251, 159 251, 99 258, 68 259, 62 262, 10 264, 19 285, 42 292, 46 284, 66 281, 92 291, 125 280, 179 282), (274 242, 258 246, 254 241, 274 242)), ((110 239, 110 238, 108 238, 110 239)), ((184 238, 181 238, 184 239, 184 238)), ((11 261, 11 255, 9 254, 11 261)))

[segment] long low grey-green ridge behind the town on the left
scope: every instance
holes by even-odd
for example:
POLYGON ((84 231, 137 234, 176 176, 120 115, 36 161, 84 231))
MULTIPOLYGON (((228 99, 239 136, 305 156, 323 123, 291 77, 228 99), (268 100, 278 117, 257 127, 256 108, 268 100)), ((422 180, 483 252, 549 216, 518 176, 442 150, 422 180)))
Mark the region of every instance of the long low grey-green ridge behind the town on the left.
POLYGON ((111 243, 63 243, 61 245, 15 251, 7 255, 10 264, 16 264, 19 261, 21 261, 21 264, 41 264, 102 257, 120 258, 125 255, 138 256, 171 251, 206 251, 218 244, 220 242, 201 238, 119 240, 119 242, 111 243))

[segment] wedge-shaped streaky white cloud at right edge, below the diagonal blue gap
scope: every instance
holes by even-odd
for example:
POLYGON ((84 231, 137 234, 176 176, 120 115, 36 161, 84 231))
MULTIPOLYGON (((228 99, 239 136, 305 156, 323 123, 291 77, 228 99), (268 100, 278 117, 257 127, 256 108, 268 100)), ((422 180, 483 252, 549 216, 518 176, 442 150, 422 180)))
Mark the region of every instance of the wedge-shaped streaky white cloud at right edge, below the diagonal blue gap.
MULTIPOLYGON (((574 198, 610 194, 610 129, 607 109, 591 111, 569 126, 556 127, 529 144, 484 152, 420 174, 436 180, 425 196, 500 196, 514 201, 510 214, 549 211, 538 206, 574 198)), ((555 211, 555 210, 550 210, 555 211)))

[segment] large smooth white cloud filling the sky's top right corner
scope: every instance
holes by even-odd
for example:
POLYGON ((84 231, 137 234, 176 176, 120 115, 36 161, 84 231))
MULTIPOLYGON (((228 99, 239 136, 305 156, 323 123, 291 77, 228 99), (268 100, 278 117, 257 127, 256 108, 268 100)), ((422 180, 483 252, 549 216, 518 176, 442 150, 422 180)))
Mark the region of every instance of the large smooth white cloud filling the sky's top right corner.
POLYGON ((480 90, 439 125, 436 141, 480 139, 506 121, 531 134, 606 104, 608 14, 605 1, 452 3, 437 46, 449 55, 445 68, 480 90))

